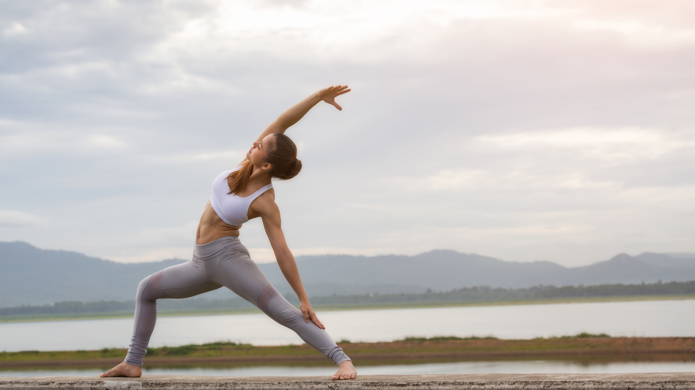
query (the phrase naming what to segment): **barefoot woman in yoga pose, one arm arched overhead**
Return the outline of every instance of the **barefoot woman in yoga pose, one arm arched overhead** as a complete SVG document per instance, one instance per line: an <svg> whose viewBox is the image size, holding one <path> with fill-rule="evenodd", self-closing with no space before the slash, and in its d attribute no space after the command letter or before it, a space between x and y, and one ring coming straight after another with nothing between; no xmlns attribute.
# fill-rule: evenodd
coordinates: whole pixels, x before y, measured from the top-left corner
<svg viewBox="0 0 695 390"><path fill-rule="evenodd" d="M283 134L285 130L320 101L343 110L335 98L347 92L350 92L347 85L327 87L283 112L261 133L235 169L215 178L212 195L198 225L193 259L149 275L140 282L128 355L124 362L99 376L142 375L142 357L154 330L158 298L188 298L222 286L294 330L306 344L332 359L338 365L334 380L357 376L350 358L327 334L309 305L297 264L280 227L280 211L270 184L272 178L288 180L302 169L302 162L297 160L297 147ZM283 275L300 298L301 311L277 293L239 241L241 224L258 217L263 220Z"/></svg>

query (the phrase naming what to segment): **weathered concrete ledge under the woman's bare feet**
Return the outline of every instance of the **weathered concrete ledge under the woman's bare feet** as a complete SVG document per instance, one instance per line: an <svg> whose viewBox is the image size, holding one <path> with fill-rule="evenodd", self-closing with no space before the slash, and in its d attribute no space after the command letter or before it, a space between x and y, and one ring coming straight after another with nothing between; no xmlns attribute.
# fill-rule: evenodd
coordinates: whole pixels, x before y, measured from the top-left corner
<svg viewBox="0 0 695 390"><path fill-rule="evenodd" d="M695 390L695 373L366 375L327 377L213 377L146 375L142 378L0 378L0 390L224 390L224 389L467 389L467 390Z"/></svg>

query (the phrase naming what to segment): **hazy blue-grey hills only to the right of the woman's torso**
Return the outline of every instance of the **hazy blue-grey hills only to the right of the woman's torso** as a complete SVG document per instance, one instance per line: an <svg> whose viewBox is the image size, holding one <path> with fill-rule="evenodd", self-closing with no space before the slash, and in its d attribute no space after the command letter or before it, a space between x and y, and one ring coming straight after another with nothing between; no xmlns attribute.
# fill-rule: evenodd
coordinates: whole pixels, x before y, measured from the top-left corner
<svg viewBox="0 0 695 390"><path fill-rule="evenodd" d="M493 257L431 251L415 256L322 255L297 257L302 280L310 295L330 295L336 289L352 289L343 294L380 294L379 287L391 284L402 292L448 291L461 287L490 286L525 288L537 285L603 285L685 282L695 280L695 256L642 253L637 256L616 255L610 260L588 266L567 268L553 262L505 262ZM279 291L290 288L277 264L263 264L263 272ZM325 286L325 294L314 288ZM419 287L418 289L414 289ZM370 289L371 288L371 289ZM414 290L405 291L406 288ZM359 291L358 291L359 290ZM336 294L341 294L336 291Z"/></svg>

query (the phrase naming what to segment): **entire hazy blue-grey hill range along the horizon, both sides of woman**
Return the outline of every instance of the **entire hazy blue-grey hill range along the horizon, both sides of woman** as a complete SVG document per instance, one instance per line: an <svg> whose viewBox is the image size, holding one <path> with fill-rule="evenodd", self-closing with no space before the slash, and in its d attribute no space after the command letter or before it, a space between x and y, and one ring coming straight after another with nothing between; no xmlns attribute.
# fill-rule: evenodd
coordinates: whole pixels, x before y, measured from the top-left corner
<svg viewBox="0 0 695 390"><path fill-rule="evenodd" d="M25 242L0 242L0 307L43 305L65 300L130 300L138 282L183 260L122 264L70 251L47 251ZM259 264L275 287L291 287L275 263ZM298 256L297 266L311 296L377 292L420 293L486 285L598 285L695 280L695 255L617 255L589 266L552 262L505 262L493 257L431 251L416 256ZM227 289L204 294L229 298Z"/></svg>

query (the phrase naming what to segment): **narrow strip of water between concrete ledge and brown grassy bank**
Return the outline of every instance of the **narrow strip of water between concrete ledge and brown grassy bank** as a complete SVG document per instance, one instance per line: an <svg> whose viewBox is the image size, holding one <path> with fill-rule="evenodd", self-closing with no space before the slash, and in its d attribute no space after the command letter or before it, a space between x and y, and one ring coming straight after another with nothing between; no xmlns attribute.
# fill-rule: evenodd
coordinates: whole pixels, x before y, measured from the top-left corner
<svg viewBox="0 0 695 390"><path fill-rule="evenodd" d="M213 376L320 376L333 375L334 367L261 366L239 368L145 368L144 375L213 375ZM455 362L400 364L395 366L357 366L360 375L424 375L475 373L679 373L695 371L695 362L577 364L547 360L525 362ZM33 370L0 371L0 376L97 376L103 370Z"/></svg>

